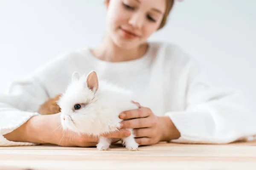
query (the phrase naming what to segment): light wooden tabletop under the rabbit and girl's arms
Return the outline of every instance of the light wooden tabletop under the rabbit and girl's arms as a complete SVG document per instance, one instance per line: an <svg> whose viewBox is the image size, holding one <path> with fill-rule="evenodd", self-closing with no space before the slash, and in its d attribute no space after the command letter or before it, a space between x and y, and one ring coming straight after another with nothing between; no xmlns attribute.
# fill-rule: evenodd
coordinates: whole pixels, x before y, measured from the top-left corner
<svg viewBox="0 0 256 170"><path fill-rule="evenodd" d="M0 147L0 169L7 167L8 170L256 170L256 141L219 145L159 143L140 147L138 151L127 151L120 145L108 151L51 145Z"/></svg>

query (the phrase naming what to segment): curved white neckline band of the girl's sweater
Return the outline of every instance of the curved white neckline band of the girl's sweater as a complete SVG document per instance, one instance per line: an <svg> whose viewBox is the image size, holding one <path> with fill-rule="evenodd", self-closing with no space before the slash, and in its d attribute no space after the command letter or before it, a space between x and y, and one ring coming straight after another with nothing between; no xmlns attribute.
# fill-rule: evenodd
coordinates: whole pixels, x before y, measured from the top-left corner
<svg viewBox="0 0 256 170"><path fill-rule="evenodd" d="M90 62L93 62L93 64L97 65L97 67L108 68L113 71L129 71L148 67L151 62L152 50L153 46L150 42L148 42L148 49L142 57L123 62L111 62L98 59L93 55L90 47L86 48L84 56L89 58Z"/></svg>

